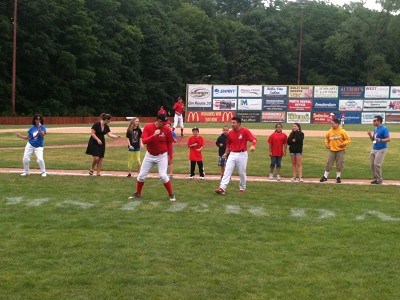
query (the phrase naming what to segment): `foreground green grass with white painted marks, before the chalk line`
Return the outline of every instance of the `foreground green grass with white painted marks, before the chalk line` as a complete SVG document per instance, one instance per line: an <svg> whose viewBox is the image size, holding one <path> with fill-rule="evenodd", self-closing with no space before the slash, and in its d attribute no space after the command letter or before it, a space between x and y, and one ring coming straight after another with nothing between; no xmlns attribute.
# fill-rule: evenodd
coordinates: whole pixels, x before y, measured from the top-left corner
<svg viewBox="0 0 400 300"><path fill-rule="evenodd" d="M220 196L174 180L170 203L155 179L131 202L128 178L0 180L5 299L400 297L395 186L249 182L239 195L231 182Z"/></svg>

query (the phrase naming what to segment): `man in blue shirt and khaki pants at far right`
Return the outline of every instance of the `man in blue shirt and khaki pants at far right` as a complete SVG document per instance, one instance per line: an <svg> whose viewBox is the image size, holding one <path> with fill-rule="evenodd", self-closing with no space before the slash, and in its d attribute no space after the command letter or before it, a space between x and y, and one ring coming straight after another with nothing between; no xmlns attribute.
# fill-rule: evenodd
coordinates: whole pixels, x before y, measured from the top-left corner
<svg viewBox="0 0 400 300"><path fill-rule="evenodd" d="M387 151L387 143L390 142L389 130L382 124L381 116L374 117L374 134L368 131L368 136L372 141L372 150L370 153L370 166L374 180L371 184L382 184L382 164Z"/></svg>

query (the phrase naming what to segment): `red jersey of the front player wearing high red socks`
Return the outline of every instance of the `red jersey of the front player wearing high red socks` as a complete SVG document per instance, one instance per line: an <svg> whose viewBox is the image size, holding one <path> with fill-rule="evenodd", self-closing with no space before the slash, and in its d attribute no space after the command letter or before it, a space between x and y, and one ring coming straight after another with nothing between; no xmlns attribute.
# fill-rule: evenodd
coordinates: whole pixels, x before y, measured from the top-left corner
<svg viewBox="0 0 400 300"><path fill-rule="evenodd" d="M147 151L151 155L159 155L164 152L168 152L169 158L172 159L172 143L174 138L172 137L171 129L168 126L164 126L160 129L160 134L154 136L154 132L158 128L154 123L146 124L143 128L142 141L147 146Z"/></svg>

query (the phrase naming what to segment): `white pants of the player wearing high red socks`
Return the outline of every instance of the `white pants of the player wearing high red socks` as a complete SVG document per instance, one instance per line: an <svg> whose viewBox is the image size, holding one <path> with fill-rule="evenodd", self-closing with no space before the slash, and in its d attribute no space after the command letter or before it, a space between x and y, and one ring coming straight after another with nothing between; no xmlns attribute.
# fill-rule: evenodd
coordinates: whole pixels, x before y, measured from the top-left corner
<svg viewBox="0 0 400 300"><path fill-rule="evenodd" d="M167 183L169 181L169 177L167 175L168 152L164 152L160 155L151 155L146 151L137 181L144 182L154 165L158 166L158 176L160 177L162 183Z"/></svg>

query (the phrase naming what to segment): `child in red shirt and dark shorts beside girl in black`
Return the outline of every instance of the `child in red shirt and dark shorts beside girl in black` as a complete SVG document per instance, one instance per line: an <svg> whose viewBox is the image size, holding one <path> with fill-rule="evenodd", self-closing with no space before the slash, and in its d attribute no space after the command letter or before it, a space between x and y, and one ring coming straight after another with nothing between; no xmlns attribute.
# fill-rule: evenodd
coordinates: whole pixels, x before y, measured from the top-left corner
<svg viewBox="0 0 400 300"><path fill-rule="evenodd" d="M269 179L274 179L274 169L276 168L276 180L281 180L281 163L282 157L286 156L287 135L282 132L282 124L275 125L275 131L267 140L269 157L271 164L269 166Z"/></svg>

